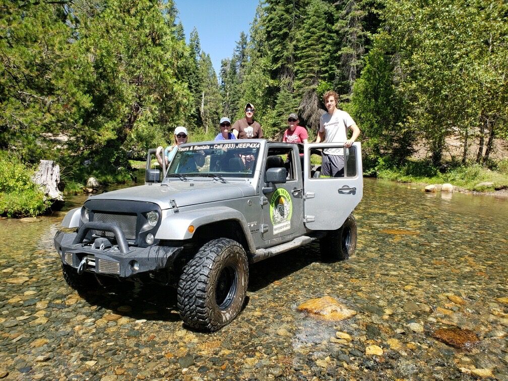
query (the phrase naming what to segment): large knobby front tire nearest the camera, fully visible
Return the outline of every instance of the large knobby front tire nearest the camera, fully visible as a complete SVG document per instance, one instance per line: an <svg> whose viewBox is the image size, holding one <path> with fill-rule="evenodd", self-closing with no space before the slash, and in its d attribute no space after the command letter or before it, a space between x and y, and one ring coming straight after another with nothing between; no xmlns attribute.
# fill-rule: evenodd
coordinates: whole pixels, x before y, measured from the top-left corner
<svg viewBox="0 0 508 381"><path fill-rule="evenodd" d="M247 293L249 267L243 247L228 238L205 243L183 268L178 309L183 322L216 331L235 319Z"/></svg>

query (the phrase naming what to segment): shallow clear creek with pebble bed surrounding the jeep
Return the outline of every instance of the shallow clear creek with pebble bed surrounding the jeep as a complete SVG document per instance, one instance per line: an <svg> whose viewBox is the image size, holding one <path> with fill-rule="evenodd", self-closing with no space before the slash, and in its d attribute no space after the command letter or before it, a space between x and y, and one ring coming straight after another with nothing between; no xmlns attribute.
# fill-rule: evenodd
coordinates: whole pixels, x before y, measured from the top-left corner
<svg viewBox="0 0 508 381"><path fill-rule="evenodd" d="M0 221L0 379L508 379L506 199L366 180L356 255L252 265L243 311L212 334L182 325L170 289L70 289L63 215ZM322 297L356 314L299 310Z"/></svg>

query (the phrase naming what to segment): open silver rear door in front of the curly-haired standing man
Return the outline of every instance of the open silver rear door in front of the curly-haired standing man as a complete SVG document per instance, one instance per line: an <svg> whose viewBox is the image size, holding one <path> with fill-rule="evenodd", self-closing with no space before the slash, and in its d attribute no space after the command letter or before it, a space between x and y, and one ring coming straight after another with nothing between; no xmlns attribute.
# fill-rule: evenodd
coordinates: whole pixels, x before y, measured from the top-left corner
<svg viewBox="0 0 508 381"><path fill-rule="evenodd" d="M344 158L340 177L321 174L323 149L334 148ZM304 145L304 223L312 230L339 229L363 196L362 150L360 143L344 148L344 143Z"/></svg>

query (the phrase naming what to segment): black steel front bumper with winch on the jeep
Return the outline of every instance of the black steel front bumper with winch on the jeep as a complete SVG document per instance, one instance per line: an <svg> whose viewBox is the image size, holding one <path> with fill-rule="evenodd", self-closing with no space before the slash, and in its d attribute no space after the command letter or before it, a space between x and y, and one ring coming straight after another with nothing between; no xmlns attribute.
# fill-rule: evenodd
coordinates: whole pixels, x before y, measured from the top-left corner
<svg viewBox="0 0 508 381"><path fill-rule="evenodd" d="M100 249L93 247L93 241L83 243L78 235L79 233L65 233L61 230L55 234L54 245L63 264L78 272L116 275L121 278L171 267L183 249L183 246L135 247L126 243ZM117 238L117 241L126 242L121 237Z"/></svg>

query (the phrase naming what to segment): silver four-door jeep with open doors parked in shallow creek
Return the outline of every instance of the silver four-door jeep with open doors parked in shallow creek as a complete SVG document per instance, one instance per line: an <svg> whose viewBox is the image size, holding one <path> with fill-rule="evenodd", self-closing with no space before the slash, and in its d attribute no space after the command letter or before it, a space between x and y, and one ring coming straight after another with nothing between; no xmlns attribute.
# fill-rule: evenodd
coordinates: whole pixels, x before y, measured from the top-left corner
<svg viewBox="0 0 508 381"><path fill-rule="evenodd" d="M341 177L320 176L324 148L342 153ZM145 185L90 196L63 218L75 231L58 231L54 244L71 287L114 278L173 285L183 321L215 331L241 310L249 263L315 240L328 260L355 251L359 143L188 143L167 169L153 152Z"/></svg>

